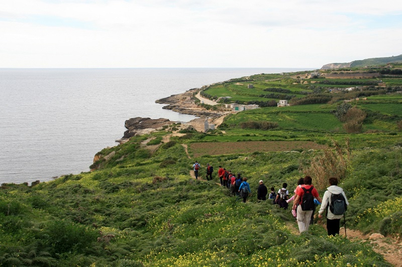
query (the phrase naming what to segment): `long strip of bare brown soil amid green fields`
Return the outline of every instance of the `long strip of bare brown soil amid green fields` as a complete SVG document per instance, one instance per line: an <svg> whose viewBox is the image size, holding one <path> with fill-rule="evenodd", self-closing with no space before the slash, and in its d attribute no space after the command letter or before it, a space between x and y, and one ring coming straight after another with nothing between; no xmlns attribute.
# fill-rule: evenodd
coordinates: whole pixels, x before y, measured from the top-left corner
<svg viewBox="0 0 402 267"><path fill-rule="evenodd" d="M208 142L189 145L194 157L202 155L243 154L252 152L291 151L296 149L324 149L326 146L311 141L244 141Z"/></svg>

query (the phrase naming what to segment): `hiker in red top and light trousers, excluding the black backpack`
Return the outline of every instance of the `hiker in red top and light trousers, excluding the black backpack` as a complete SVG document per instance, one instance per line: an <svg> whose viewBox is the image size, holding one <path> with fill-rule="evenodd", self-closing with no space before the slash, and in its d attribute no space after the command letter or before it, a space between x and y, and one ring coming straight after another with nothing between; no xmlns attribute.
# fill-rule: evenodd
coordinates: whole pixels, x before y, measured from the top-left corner
<svg viewBox="0 0 402 267"><path fill-rule="evenodd" d="M306 192L309 193L311 192L311 194L315 198L317 198L317 200L320 203L322 202L322 199L319 196L317 189L314 188L314 186L312 185L312 178L310 176L306 176L303 180L305 184L301 185L300 187L299 186L296 187L296 198L294 199L292 207L293 210L295 210L297 207L297 225L298 230L300 232L309 230L311 214L313 213L313 207L311 208L311 210L303 210L302 208L303 195Z"/></svg>

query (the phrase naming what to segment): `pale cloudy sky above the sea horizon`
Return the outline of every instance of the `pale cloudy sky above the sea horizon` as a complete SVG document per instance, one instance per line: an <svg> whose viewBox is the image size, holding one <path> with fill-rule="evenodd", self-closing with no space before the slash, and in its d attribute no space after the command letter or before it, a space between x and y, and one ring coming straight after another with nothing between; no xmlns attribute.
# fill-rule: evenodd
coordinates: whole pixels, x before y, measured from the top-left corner
<svg viewBox="0 0 402 267"><path fill-rule="evenodd" d="M0 68L321 68L402 54L394 0L0 0Z"/></svg>

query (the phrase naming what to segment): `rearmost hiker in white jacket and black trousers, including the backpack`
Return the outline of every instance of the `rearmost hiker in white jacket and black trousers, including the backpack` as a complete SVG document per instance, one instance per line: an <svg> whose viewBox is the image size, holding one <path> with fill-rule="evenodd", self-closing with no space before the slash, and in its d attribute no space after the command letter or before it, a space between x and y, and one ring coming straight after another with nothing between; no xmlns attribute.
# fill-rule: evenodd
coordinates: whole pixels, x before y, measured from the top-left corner
<svg viewBox="0 0 402 267"><path fill-rule="evenodd" d="M327 188L323 196L323 201L321 204L321 208L318 211L318 217L321 219L324 213L324 210L327 209L327 231L328 235L337 235L339 234L339 224L341 218L344 216L347 206L349 205L348 199L346 198L345 192L341 187L338 186L338 178L331 177L329 179L330 186ZM342 196L344 199L342 199ZM338 206L332 203L332 201L343 201L339 210ZM343 205L343 206L342 206ZM345 206L346 205L346 206ZM332 206L332 208L331 208ZM343 209L343 210L342 210ZM339 215L335 215L334 213L342 213Z"/></svg>

